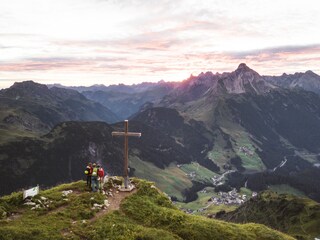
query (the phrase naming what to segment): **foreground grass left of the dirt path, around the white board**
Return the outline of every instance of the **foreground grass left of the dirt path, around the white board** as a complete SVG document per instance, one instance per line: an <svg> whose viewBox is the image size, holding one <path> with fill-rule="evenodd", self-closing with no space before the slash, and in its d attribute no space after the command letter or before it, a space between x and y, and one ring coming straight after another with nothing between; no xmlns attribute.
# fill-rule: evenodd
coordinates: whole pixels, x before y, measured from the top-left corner
<svg viewBox="0 0 320 240"><path fill-rule="evenodd" d="M68 201L63 200L63 190L74 191L68 195ZM1 198L0 214L14 213L16 217L0 221L0 239L63 239L64 229L72 227L75 221L93 217L93 203L101 204L104 199L101 194L87 192L83 181L40 191L34 199L40 200L41 196L52 201L48 208L31 210L30 206L22 205L22 193Z"/></svg>

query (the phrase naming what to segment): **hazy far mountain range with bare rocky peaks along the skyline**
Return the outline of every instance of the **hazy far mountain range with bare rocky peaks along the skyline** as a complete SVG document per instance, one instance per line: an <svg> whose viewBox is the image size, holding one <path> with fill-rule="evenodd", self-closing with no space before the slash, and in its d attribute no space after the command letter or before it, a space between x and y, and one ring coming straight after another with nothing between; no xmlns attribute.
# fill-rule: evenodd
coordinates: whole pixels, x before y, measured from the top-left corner
<svg viewBox="0 0 320 240"><path fill-rule="evenodd" d="M261 76L246 64L241 63L231 73L206 72L198 76L191 76L182 82L159 81L135 85L93 85L90 87L48 85L49 88L54 86L77 90L88 99L101 103L123 120L135 114L140 108L150 107L150 104L161 100L166 102L165 106L170 106L171 101L174 107L180 102L188 102L205 93L215 96L254 92L261 94L280 87L301 88L319 94L320 76L312 71L289 75L284 73L281 76Z"/></svg>

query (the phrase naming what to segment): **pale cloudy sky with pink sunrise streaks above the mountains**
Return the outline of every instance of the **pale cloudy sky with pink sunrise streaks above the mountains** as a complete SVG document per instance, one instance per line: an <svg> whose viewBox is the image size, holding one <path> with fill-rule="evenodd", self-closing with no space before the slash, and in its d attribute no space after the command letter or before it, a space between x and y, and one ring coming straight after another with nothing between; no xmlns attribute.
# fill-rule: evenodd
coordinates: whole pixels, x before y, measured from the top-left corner
<svg viewBox="0 0 320 240"><path fill-rule="evenodd" d="M318 0L1 0L0 88L320 74Z"/></svg>

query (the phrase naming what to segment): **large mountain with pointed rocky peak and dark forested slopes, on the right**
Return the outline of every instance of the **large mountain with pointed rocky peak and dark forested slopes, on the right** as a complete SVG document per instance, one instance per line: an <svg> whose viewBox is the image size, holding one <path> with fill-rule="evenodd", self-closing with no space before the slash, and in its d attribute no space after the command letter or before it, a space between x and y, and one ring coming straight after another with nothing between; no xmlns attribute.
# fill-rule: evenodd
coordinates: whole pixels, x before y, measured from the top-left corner
<svg viewBox="0 0 320 240"><path fill-rule="evenodd" d="M185 148L191 145L192 152L199 153L193 161L208 158L219 167L217 171L204 165L212 171L236 170L226 180L227 186L239 188L246 183L260 191L287 183L319 201L320 182L315 180L320 174L319 103L320 96L313 92L276 87L240 64L231 73L189 78L160 102L147 104L133 119L183 139ZM159 107L176 109L180 122L201 132L206 141L185 144L192 131L180 129L181 124L171 127L171 115Z"/></svg>

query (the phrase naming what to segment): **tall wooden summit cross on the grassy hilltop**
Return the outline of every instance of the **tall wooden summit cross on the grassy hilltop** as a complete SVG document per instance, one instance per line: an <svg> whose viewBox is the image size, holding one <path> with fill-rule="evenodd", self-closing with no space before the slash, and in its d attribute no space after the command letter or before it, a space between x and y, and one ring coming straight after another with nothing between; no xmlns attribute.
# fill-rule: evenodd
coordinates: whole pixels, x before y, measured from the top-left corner
<svg viewBox="0 0 320 240"><path fill-rule="evenodd" d="M128 120L124 120L124 132L112 132L112 136L124 136L124 187L127 189L129 185L128 178L128 137L141 137L141 133L128 132Z"/></svg>

